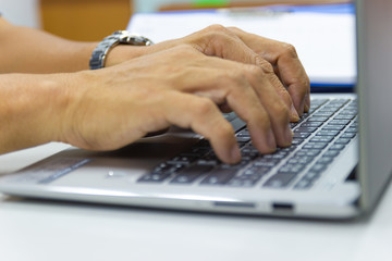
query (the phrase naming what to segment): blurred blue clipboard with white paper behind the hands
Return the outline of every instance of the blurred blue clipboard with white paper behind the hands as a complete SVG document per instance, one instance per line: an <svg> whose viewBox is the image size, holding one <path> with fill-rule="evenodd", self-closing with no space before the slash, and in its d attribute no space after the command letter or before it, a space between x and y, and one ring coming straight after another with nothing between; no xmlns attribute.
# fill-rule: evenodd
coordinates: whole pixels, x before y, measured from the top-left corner
<svg viewBox="0 0 392 261"><path fill-rule="evenodd" d="M137 13L127 30L160 42L211 24L235 26L295 46L314 92L353 91L357 70L352 3Z"/></svg>

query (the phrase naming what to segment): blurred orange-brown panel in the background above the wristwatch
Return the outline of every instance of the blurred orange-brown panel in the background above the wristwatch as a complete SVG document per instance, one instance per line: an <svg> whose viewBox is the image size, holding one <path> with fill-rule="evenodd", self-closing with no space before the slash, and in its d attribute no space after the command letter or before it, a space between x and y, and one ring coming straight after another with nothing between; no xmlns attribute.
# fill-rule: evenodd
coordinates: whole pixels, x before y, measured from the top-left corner
<svg viewBox="0 0 392 261"><path fill-rule="evenodd" d="M42 28L73 40L101 40L125 29L130 0L40 0Z"/></svg>

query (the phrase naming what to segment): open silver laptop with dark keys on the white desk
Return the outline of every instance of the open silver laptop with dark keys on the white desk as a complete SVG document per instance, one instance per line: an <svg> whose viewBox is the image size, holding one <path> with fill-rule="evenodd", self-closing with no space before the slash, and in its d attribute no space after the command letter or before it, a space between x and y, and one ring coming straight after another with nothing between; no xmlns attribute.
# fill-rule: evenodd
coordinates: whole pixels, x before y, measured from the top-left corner
<svg viewBox="0 0 392 261"><path fill-rule="evenodd" d="M356 14L356 94L314 95L309 113L292 124L289 148L258 153L244 122L229 113L240 164L221 163L208 140L172 128L111 152L71 148L2 176L0 191L255 215L336 220L369 213L392 171L392 2L358 0Z"/></svg>

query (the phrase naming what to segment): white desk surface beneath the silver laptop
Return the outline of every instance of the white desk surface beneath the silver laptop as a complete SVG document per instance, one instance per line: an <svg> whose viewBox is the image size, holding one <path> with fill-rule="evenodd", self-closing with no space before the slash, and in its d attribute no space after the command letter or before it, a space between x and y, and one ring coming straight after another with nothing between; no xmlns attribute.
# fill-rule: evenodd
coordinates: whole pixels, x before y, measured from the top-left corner
<svg viewBox="0 0 392 261"><path fill-rule="evenodd" d="M0 157L10 172L66 148ZM0 195L0 260L391 260L392 190L369 220L321 222L15 200Z"/></svg>

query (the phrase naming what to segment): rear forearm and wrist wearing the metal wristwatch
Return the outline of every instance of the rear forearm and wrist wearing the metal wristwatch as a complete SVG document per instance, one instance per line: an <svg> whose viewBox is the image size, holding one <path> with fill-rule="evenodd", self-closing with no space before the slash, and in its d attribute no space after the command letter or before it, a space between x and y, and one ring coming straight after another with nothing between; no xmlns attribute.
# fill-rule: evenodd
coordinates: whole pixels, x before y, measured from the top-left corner
<svg viewBox="0 0 392 261"><path fill-rule="evenodd" d="M34 28L11 25L0 17L0 73L87 70L97 44L66 40ZM138 51L134 47L117 47L109 52L107 65L132 59Z"/></svg>

